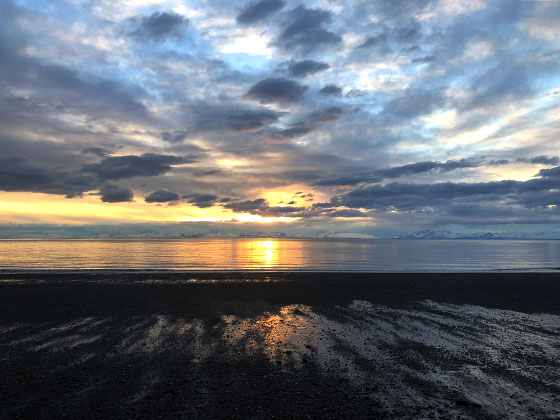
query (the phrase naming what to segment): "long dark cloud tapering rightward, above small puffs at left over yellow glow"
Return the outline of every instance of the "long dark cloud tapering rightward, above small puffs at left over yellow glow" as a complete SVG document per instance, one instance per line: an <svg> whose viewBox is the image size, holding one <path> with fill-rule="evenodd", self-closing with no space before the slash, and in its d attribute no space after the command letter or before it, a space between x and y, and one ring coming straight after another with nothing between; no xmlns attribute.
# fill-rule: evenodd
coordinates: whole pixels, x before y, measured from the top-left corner
<svg viewBox="0 0 560 420"><path fill-rule="evenodd" d="M172 165L190 163L192 160L172 155L145 153L141 156L115 156L99 163L85 165L82 172L95 174L102 180L119 180L135 176L158 176L172 169Z"/></svg>

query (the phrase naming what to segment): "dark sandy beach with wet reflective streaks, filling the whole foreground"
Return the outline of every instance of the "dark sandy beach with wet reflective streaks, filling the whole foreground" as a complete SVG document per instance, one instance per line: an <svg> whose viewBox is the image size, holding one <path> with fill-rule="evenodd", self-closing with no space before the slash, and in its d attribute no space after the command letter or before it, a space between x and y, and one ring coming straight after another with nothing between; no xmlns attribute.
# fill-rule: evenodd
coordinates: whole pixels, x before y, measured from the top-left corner
<svg viewBox="0 0 560 420"><path fill-rule="evenodd" d="M0 274L0 418L560 419L560 275Z"/></svg>

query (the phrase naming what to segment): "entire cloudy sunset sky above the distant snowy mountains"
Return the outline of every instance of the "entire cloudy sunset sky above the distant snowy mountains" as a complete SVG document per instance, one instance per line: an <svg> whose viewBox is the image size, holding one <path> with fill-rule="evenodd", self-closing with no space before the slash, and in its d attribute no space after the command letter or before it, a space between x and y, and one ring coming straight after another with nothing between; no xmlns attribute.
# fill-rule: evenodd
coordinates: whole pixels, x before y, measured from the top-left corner
<svg viewBox="0 0 560 420"><path fill-rule="evenodd" d="M560 1L3 0L0 56L4 227L560 235Z"/></svg>

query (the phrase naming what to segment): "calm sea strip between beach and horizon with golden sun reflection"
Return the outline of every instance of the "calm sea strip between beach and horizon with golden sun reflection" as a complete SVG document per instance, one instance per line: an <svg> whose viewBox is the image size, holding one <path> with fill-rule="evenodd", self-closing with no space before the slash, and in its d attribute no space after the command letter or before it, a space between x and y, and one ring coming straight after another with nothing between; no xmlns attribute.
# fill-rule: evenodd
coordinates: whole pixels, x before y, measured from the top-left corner
<svg viewBox="0 0 560 420"><path fill-rule="evenodd" d="M0 240L0 270L493 271L560 267L560 241Z"/></svg>

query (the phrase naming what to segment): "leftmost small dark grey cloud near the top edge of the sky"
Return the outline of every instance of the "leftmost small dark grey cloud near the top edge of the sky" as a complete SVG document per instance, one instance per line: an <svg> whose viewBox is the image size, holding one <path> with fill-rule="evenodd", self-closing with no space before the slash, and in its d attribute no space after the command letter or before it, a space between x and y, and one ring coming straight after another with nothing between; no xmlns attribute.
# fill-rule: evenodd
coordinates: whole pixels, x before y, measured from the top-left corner
<svg viewBox="0 0 560 420"><path fill-rule="evenodd" d="M131 35L138 40L161 41L169 36L181 37L188 19L173 12L154 12L140 18L138 28Z"/></svg>

